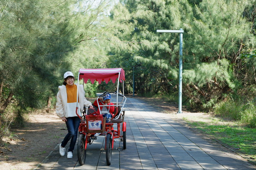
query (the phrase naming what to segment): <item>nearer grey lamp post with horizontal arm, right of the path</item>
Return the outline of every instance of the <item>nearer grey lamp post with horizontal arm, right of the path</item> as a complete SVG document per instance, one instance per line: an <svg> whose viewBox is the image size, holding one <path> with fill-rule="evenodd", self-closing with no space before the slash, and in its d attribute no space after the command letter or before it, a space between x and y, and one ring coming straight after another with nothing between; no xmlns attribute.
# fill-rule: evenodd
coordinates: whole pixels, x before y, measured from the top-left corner
<svg viewBox="0 0 256 170"><path fill-rule="evenodd" d="M180 54L179 54L179 111L178 113L182 113L181 104L182 104L182 39L184 30L180 28L180 30L156 30L157 33L180 33Z"/></svg>

